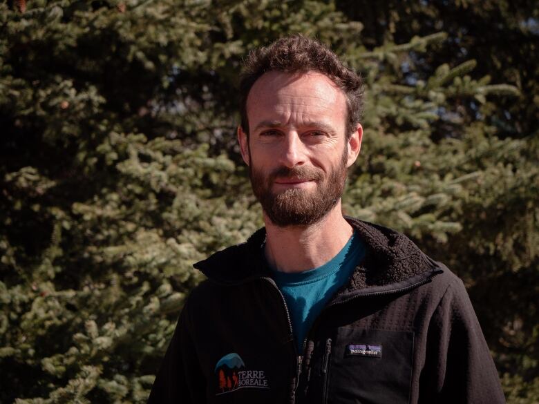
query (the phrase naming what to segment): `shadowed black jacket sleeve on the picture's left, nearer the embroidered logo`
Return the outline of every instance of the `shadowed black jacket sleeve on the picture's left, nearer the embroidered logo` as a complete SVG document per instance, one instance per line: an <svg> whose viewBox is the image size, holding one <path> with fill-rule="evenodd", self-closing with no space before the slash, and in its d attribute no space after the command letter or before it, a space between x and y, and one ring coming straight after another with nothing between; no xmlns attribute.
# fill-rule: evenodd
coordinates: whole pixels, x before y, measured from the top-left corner
<svg viewBox="0 0 539 404"><path fill-rule="evenodd" d="M206 402L205 376L200 370L193 343L188 304L186 302L182 309L167 353L153 382L148 404Z"/></svg>

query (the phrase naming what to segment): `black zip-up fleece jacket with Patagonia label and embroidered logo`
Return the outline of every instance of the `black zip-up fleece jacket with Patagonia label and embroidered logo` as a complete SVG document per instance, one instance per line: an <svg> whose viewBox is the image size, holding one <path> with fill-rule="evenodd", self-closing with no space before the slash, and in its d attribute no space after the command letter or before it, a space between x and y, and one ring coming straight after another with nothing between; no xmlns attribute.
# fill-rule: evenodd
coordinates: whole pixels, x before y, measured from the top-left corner
<svg viewBox="0 0 539 404"><path fill-rule="evenodd" d="M195 267L149 403L504 403L462 281L406 236L347 218L367 245L296 352L261 245Z"/></svg>

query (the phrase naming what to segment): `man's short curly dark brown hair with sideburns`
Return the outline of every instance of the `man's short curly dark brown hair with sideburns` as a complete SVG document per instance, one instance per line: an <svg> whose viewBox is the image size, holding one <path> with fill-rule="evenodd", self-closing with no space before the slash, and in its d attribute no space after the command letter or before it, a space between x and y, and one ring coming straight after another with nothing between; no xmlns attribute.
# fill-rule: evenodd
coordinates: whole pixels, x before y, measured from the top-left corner
<svg viewBox="0 0 539 404"><path fill-rule="evenodd" d="M363 80L321 42L303 35L292 35L274 41L269 46L252 50L244 62L240 76L241 128L249 135L247 97L264 73L278 71L304 73L314 71L330 78L346 96L346 137L355 131L363 109Z"/></svg>

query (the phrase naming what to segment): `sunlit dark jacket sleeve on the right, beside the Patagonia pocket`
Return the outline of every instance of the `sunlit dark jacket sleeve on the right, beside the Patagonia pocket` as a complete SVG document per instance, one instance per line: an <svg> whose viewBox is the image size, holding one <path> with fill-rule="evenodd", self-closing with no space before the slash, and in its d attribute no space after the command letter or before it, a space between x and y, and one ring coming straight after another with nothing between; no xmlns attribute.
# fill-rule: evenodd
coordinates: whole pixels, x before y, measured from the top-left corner
<svg viewBox="0 0 539 404"><path fill-rule="evenodd" d="M428 329L419 403L505 403L500 378L462 280L446 289Z"/></svg>

